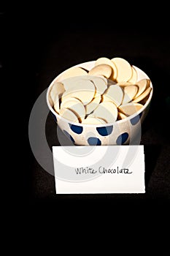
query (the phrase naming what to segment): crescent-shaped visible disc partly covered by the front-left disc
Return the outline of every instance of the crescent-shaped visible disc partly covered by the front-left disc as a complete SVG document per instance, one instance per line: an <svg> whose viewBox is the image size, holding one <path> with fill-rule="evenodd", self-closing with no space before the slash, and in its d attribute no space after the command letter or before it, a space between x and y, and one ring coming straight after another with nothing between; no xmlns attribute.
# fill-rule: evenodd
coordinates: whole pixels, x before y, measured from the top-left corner
<svg viewBox="0 0 170 256"><path fill-rule="evenodd" d="M69 108L69 110L72 110L80 121L85 118L85 107L79 99L68 98L68 100L61 102L61 109L62 108Z"/></svg>

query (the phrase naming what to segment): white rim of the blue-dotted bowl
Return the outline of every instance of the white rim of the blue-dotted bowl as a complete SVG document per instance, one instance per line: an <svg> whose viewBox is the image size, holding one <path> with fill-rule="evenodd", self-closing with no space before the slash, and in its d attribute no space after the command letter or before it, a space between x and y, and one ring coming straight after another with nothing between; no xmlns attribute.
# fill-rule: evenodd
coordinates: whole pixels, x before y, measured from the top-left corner
<svg viewBox="0 0 170 256"><path fill-rule="evenodd" d="M95 61L86 61L86 62L82 62L82 63L80 63L80 64L76 64L76 65L74 65L74 66L72 66L72 67L82 67L82 68L85 68L85 67L84 67L85 64L94 64L94 63L95 63ZM136 67L136 66L134 66L134 65L132 65L132 67L134 67L134 69L136 69L136 72L137 72L137 73L140 72L140 73L142 73L142 75L144 75L145 78L150 79L150 78L148 77L148 75L147 75L142 69L139 69L139 67ZM136 111L136 113L134 113L134 114L131 115L131 116L127 116L126 118L123 118L123 119L121 119L121 120L113 121L113 122L111 122L111 123L106 123L106 124L82 124L82 123L76 123L76 122L74 122L74 121L69 121L69 120L67 120L66 118L63 118L63 116L60 116L58 113L56 113L55 110L53 110L53 108L52 108L51 105L50 105L49 97L48 97L48 95L49 95L49 93L50 93L50 89L51 89L51 87L53 86L53 83L55 83L55 80L58 80L58 78L60 78L61 75L63 75L63 73L66 72L66 70L67 70L67 69L65 69L63 72L61 72L59 75L57 75L57 76L52 80L52 82L50 83L50 85L49 85L48 88L47 88L47 94L46 94L47 105L48 105L48 108L50 109L50 111L56 116L57 120L60 120L60 119L61 119L62 121L66 121L66 122L69 123L69 124L73 124L73 125L80 126L80 127L82 127L82 126L83 126L83 127L109 127L109 126L111 126L111 125L113 125L113 124L115 124L115 123L116 123L116 124L121 124L121 123L123 123L123 122L130 121L132 118L134 118L134 117L136 117L136 116L139 116L139 114L142 113L142 112L147 108L147 106L150 104L150 102L151 102L152 94L153 94L152 80L150 80L150 87L152 88L152 90L150 91L150 95L149 95L149 97L148 97L148 99L147 99L147 102L143 105L143 107L142 107L140 110Z"/></svg>

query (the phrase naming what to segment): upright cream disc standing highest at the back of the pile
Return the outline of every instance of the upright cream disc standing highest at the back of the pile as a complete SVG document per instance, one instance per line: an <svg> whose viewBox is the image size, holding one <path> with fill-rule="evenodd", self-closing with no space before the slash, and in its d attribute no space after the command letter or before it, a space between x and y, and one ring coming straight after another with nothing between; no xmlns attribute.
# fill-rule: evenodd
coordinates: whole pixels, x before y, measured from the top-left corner
<svg viewBox="0 0 170 256"><path fill-rule="evenodd" d="M111 61L117 67L117 82L127 82L132 76L131 64L123 58L113 58Z"/></svg>

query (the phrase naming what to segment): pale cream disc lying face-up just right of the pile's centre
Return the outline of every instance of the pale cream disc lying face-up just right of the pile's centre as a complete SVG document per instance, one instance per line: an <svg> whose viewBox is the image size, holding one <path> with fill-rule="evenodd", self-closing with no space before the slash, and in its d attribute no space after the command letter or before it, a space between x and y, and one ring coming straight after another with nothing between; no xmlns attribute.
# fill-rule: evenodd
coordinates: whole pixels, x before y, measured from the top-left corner
<svg viewBox="0 0 170 256"><path fill-rule="evenodd" d="M112 101L118 107L123 100L123 89L117 85L109 86L107 91L104 92L102 100L103 102Z"/></svg>

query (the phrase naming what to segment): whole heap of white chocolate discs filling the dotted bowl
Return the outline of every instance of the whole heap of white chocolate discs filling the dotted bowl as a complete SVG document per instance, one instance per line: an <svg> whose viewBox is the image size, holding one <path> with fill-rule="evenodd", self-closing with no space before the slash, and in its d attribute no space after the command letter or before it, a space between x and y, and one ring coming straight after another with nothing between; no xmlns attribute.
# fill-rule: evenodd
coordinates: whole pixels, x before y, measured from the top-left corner
<svg viewBox="0 0 170 256"><path fill-rule="evenodd" d="M122 58L98 58L92 69L71 67L50 90L54 110L69 121L107 124L140 110L152 88L137 81L136 69Z"/></svg>

